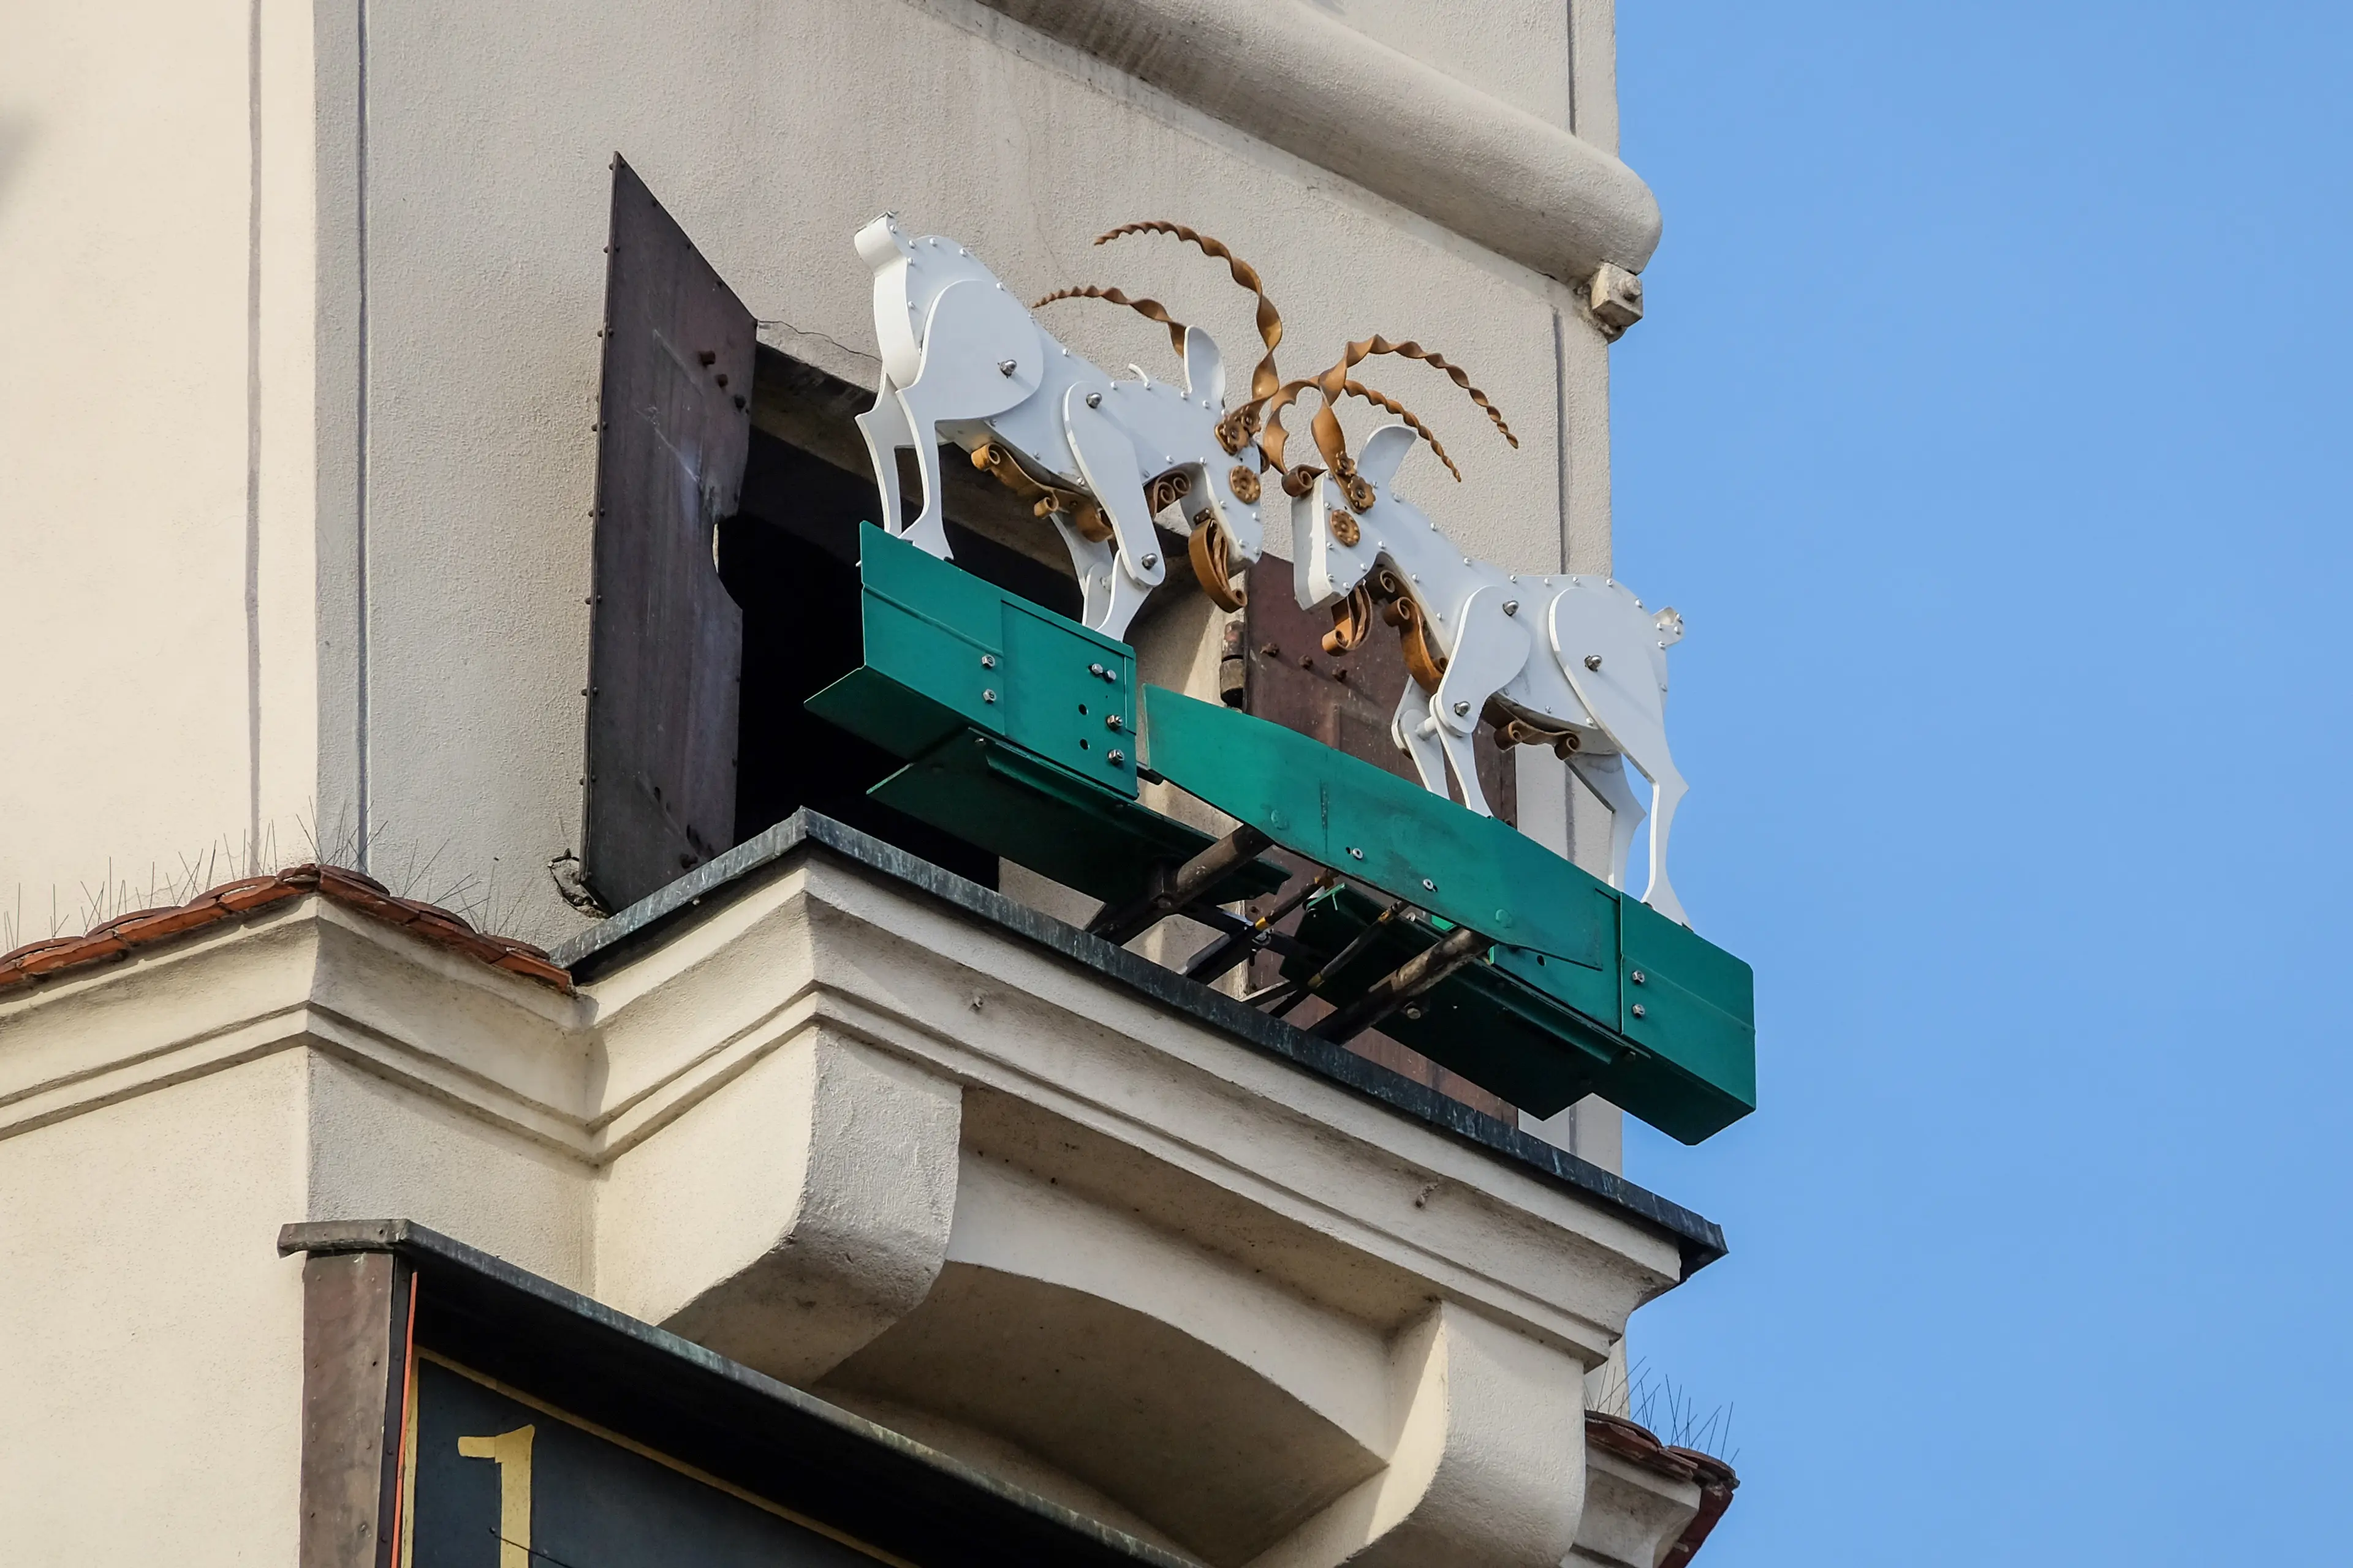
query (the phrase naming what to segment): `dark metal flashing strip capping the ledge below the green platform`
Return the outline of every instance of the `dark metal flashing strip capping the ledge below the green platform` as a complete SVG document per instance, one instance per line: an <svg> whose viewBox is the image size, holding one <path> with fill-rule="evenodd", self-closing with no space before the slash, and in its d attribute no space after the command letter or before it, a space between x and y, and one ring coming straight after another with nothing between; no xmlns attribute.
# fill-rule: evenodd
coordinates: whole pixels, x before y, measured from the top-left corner
<svg viewBox="0 0 2353 1568"><path fill-rule="evenodd" d="M1706 1265L1725 1255L1725 1232L1713 1220L1692 1213L1682 1204L1659 1197L1647 1187L1628 1182L1614 1171L1605 1171L1567 1150L1522 1133L1485 1112L1417 1084L1388 1067L1381 1067L1346 1046L1318 1039L1280 1018L1242 1006L1238 999L1209 990L1181 973L1141 959L1125 947L1087 936L1075 926L1040 914L1024 903L993 889L984 889L929 860L906 853L882 839L845 827L814 811L795 811L767 832L736 844L727 853L692 870L666 889L642 898L609 919L581 931L551 954L555 964L572 971L576 985L609 973L638 952L668 940L675 929L696 919L704 903L718 903L784 875L798 853L809 846L838 860L878 872L984 919L1009 936L1047 947L1066 961L1082 964L1106 980L1125 985L1200 1023L1207 1023L1242 1044L1278 1056L1301 1072L1339 1084L1367 1100L1379 1100L1388 1110L1435 1126L1464 1143L1508 1159L1555 1187L1572 1190L1607 1208L1614 1208L1657 1232L1673 1237L1682 1255L1682 1276L1689 1279Z"/></svg>

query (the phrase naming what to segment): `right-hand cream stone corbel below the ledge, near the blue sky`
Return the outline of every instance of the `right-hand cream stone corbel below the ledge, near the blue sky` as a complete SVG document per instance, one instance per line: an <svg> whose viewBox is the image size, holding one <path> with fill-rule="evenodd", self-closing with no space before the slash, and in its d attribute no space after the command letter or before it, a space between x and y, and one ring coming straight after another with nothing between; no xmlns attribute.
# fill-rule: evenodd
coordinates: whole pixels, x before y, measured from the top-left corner
<svg viewBox="0 0 2353 1568"><path fill-rule="evenodd" d="M1264 1552L1252 1568L1553 1568L1586 1493L1584 1368L1440 1302L1391 1359L1388 1467Z"/></svg>

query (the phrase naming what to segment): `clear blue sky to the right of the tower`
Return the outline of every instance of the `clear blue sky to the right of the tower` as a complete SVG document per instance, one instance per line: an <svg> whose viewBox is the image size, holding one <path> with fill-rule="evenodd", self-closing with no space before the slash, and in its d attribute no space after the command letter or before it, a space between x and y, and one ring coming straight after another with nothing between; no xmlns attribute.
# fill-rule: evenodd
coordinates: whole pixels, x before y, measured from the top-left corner
<svg viewBox="0 0 2353 1568"><path fill-rule="evenodd" d="M2353 1559L2353 9L1624 0L1722 1563ZM2334 1540L2337 1544L2327 1544ZM2306 1556L2311 1554L2311 1556Z"/></svg>

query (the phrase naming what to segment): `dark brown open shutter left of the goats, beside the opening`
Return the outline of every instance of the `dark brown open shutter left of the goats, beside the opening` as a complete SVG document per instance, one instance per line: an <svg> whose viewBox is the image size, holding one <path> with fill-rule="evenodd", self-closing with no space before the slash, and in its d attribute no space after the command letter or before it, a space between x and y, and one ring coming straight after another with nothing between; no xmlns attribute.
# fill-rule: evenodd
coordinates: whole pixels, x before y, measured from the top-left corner
<svg viewBox="0 0 2353 1568"><path fill-rule="evenodd" d="M753 315L612 162L581 875L631 905L734 844L744 616L713 529L751 449Z"/></svg>

